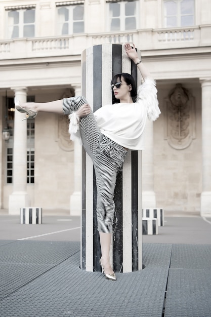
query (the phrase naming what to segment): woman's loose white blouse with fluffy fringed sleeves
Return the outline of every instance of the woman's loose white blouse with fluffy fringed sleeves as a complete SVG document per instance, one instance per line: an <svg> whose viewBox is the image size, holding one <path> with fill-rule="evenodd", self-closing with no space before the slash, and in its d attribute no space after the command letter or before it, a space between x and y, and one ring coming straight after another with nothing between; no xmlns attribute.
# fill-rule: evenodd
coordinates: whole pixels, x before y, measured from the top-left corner
<svg viewBox="0 0 211 317"><path fill-rule="evenodd" d="M159 114L157 89L154 80L149 77L139 86L135 103L109 104L94 112L100 131L114 142L132 150L144 149L143 132L147 116L149 120L155 121ZM69 115L71 135L76 133L73 116Z"/></svg>

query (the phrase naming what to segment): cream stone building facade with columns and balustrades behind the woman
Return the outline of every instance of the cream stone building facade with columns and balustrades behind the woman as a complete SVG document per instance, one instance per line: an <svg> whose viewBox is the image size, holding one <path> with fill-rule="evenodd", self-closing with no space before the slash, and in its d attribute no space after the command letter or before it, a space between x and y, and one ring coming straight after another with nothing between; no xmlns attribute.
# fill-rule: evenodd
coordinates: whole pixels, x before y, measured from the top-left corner
<svg viewBox="0 0 211 317"><path fill-rule="evenodd" d="M67 118L21 121L13 99L79 95L81 53L130 42L156 80L161 109L145 131L143 207L211 215L210 0L10 0L0 1L0 17L1 208L80 214L81 148Z"/></svg>

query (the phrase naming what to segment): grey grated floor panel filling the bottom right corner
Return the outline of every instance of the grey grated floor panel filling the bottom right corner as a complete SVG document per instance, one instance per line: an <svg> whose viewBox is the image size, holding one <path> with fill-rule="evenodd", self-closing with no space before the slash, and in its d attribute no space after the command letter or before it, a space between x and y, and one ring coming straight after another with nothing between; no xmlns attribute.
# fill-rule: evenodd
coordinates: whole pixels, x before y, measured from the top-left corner
<svg viewBox="0 0 211 317"><path fill-rule="evenodd" d="M211 316L211 270L170 269L164 317Z"/></svg>

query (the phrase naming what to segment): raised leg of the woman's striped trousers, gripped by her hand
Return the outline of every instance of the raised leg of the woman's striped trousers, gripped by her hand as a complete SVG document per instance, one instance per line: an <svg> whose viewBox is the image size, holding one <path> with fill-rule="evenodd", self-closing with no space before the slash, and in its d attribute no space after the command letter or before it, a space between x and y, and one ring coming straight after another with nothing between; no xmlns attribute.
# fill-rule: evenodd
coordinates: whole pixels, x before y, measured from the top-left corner
<svg viewBox="0 0 211 317"><path fill-rule="evenodd" d="M63 113L71 114L77 111L82 105L88 103L83 96L76 96L63 99ZM96 123L93 111L80 118L80 135L85 150L91 159L100 154L102 133Z"/></svg>

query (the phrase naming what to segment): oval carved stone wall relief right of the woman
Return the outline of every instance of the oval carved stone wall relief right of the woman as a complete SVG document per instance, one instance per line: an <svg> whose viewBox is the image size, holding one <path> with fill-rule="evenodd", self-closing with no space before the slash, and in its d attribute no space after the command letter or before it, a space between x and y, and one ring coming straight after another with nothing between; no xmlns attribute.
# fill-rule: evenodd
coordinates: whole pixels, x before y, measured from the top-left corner
<svg viewBox="0 0 211 317"><path fill-rule="evenodd" d="M177 84L166 99L165 139L175 149L188 147L195 139L195 105L189 91Z"/></svg>

